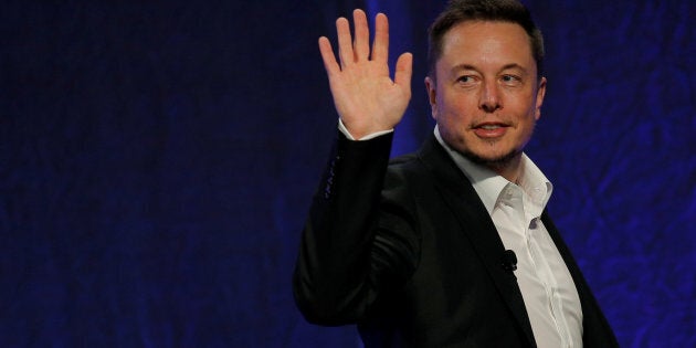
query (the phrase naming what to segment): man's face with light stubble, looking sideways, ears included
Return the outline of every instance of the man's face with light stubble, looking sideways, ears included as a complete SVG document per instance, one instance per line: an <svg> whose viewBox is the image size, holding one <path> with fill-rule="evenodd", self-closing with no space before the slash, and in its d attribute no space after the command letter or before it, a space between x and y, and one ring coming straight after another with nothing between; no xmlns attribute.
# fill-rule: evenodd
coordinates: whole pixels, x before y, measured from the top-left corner
<svg viewBox="0 0 696 348"><path fill-rule="evenodd" d="M489 166L519 158L546 92L521 27L456 24L443 38L435 76L425 78L432 116L451 147Z"/></svg>

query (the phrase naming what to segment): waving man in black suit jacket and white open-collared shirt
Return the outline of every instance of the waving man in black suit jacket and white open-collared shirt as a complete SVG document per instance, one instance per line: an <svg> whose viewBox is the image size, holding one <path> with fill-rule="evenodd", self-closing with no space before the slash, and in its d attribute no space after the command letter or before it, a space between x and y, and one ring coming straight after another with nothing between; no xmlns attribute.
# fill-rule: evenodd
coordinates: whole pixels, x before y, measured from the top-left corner
<svg viewBox="0 0 696 348"><path fill-rule="evenodd" d="M523 152L540 117L541 33L515 0L454 0L430 30L433 136L389 161L412 56L387 65L388 21L336 22L319 50L339 136L294 276L307 320L357 323L366 347L615 347Z"/></svg>

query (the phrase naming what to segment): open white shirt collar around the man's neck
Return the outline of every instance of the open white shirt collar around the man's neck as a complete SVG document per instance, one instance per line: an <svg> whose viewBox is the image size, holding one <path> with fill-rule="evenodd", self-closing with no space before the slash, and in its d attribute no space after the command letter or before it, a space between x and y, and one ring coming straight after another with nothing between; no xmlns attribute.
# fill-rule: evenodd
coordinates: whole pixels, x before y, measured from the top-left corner
<svg viewBox="0 0 696 348"><path fill-rule="evenodd" d="M435 135L435 138L437 139L437 143L440 143L440 145L444 147L444 149L447 151L447 154L450 154L450 157L454 160L456 166L472 182L474 190L476 190L476 193L486 207L488 214L492 214L493 209L495 208L495 204L500 197L500 193L512 182L497 175L495 171L481 165L474 164L470 159L462 156L462 154L452 149L442 139L442 136L440 135L440 129L436 125L433 133ZM521 158L521 166L523 170L518 180L519 187L531 199L532 204L540 207L540 210L544 210L544 207L546 207L546 203L551 197L553 186L546 178L546 176L544 176L541 170L524 152Z"/></svg>

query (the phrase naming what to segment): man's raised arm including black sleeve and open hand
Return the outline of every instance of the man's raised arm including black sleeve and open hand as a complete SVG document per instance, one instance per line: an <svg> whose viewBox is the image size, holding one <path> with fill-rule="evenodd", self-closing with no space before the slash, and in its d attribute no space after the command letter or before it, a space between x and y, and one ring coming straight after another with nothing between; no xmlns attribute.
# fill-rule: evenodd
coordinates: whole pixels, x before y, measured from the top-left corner
<svg viewBox="0 0 696 348"><path fill-rule="evenodd" d="M392 129L410 98L411 55L402 54L394 81L387 66L387 17L376 18L369 57L367 19L354 12L355 44L348 21L336 22L340 65L326 38L319 49L336 109L355 138ZM303 231L294 293L307 320L325 325L355 323L379 294L380 275L390 268L389 245L376 239L392 135L351 141L339 135Z"/></svg>

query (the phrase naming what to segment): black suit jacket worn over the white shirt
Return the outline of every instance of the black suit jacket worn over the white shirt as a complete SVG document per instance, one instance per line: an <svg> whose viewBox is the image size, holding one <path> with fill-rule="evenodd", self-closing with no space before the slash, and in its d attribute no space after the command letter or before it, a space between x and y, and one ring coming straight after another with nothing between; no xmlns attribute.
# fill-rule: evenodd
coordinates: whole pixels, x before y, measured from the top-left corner
<svg viewBox="0 0 696 348"><path fill-rule="evenodd" d="M295 268L305 318L357 323L366 347L535 347L503 242L466 176L434 137L389 162L391 138L339 135ZM584 347L616 347L548 213L541 219L578 288Z"/></svg>

